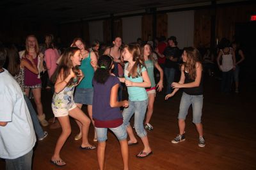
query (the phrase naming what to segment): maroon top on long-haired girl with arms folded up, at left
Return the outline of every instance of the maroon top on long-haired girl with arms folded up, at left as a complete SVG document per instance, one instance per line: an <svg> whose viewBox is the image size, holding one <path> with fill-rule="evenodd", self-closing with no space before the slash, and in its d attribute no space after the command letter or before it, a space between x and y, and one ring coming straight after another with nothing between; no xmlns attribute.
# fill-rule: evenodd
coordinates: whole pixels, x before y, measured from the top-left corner
<svg viewBox="0 0 256 170"><path fill-rule="evenodd" d="M26 58L24 58L24 59L26 59ZM38 57L36 57L33 60L37 65ZM28 63L30 63L32 65L32 63L28 59L26 59L26 61L28 61ZM25 74L25 81L24 81L25 86L35 86L36 84L41 84L41 79L38 78L38 75L36 73L29 71L28 68L26 68L26 67L24 68L24 70L25 70L25 73L24 73Z"/></svg>

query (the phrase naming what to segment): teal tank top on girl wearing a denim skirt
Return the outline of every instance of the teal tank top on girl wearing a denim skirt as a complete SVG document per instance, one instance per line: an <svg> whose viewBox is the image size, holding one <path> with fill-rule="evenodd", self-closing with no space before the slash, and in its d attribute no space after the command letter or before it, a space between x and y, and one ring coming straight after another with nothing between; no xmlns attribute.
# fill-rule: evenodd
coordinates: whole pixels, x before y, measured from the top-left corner
<svg viewBox="0 0 256 170"><path fill-rule="evenodd" d="M92 79L94 75L94 69L91 65L91 60L91 52L89 52L88 57L84 58L81 62L81 66L79 66L79 68L84 73L84 78L79 83L77 88L93 88Z"/></svg>

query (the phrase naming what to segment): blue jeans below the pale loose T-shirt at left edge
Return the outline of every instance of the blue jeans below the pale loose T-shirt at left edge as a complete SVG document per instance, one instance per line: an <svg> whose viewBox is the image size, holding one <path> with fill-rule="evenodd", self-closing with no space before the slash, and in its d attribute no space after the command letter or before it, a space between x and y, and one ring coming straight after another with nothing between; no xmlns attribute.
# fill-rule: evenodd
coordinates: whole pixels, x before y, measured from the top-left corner
<svg viewBox="0 0 256 170"><path fill-rule="evenodd" d="M17 141L19 142L19 141ZM29 151L25 155L14 158L14 159L5 159L6 170L30 170L32 164L33 150Z"/></svg>

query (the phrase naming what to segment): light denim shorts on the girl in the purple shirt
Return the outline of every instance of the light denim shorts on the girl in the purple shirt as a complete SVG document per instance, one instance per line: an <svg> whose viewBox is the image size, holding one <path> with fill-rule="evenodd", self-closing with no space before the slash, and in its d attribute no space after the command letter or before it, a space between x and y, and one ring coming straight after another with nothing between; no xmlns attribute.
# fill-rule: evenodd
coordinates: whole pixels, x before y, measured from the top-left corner
<svg viewBox="0 0 256 170"><path fill-rule="evenodd" d="M109 128L117 137L118 141L122 141L127 138L126 128L124 123L116 128ZM97 139L99 142L104 142L108 139L107 132L108 128L97 128L95 127Z"/></svg>

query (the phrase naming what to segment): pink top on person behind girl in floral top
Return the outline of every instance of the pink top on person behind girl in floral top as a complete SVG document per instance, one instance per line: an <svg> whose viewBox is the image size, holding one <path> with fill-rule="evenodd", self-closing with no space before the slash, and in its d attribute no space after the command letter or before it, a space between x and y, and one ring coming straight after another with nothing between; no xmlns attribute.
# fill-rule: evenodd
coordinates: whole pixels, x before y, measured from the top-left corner
<svg viewBox="0 0 256 170"><path fill-rule="evenodd" d="M49 78L51 79L52 74L57 68L56 61L60 58L59 52L57 49L47 49L45 50L45 63L48 71Z"/></svg>

